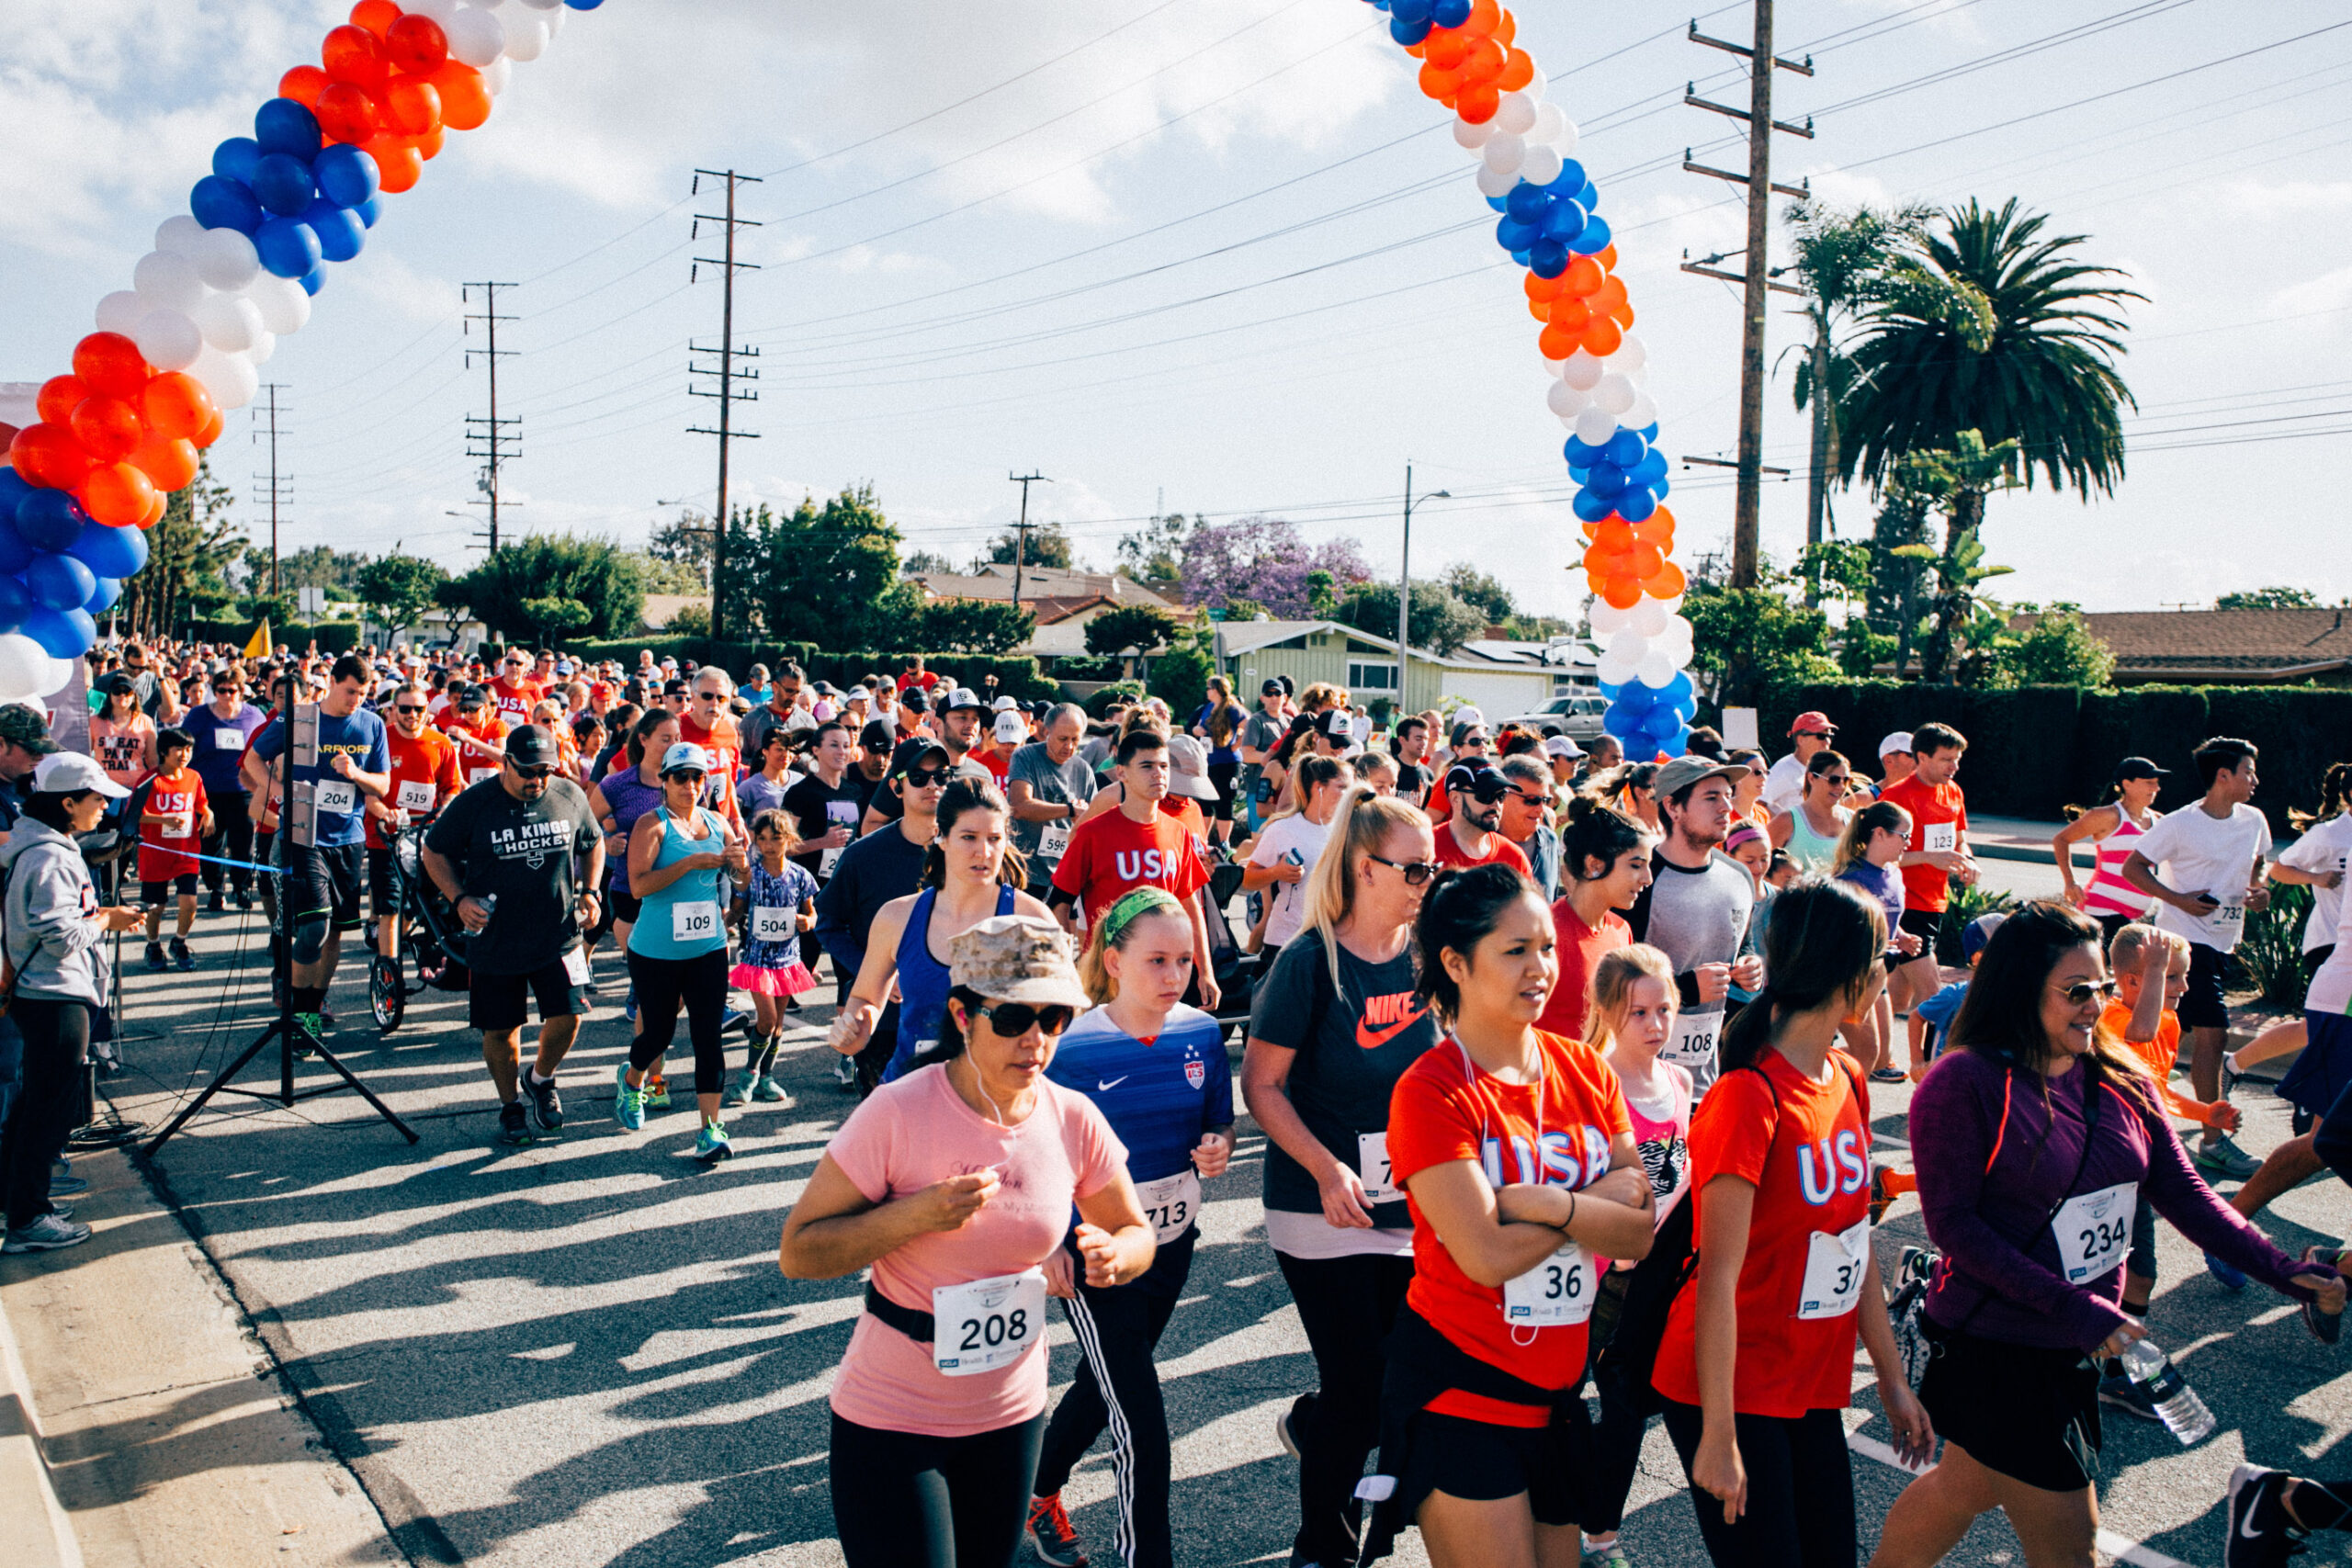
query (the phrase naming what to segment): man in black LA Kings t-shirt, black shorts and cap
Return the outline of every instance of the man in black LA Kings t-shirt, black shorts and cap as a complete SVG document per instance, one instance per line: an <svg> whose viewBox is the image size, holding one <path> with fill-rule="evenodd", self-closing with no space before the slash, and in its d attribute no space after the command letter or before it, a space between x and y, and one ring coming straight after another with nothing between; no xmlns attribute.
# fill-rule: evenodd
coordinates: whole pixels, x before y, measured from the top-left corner
<svg viewBox="0 0 2352 1568"><path fill-rule="evenodd" d="M499 776L442 809L426 832L423 867L468 931L466 1020L482 1030L482 1063L499 1091L499 1143L529 1143L532 1119L562 1131L555 1067L579 1034L576 987L588 978L581 933L600 914L604 835L588 813L588 792L560 776L546 726L510 733ZM539 999L539 1056L524 1084L527 997Z"/></svg>

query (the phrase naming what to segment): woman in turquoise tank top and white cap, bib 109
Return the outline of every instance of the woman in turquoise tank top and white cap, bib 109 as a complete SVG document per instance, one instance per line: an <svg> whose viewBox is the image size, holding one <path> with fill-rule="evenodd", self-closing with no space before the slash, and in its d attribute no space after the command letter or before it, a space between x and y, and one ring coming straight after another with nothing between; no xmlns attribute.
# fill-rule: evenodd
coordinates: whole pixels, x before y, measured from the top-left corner
<svg viewBox="0 0 2352 1568"><path fill-rule="evenodd" d="M637 893L637 922L628 931L628 978L637 992L637 1037L621 1065L614 1119L644 1126L644 1074L677 1034L677 1009L687 1009L694 1041L694 1098L703 1131L696 1159L734 1154L720 1124L727 1091L727 922L720 905L720 872L748 879L743 839L717 811L701 804L710 755L680 741L661 759L661 804L637 818L628 835L628 886Z"/></svg>

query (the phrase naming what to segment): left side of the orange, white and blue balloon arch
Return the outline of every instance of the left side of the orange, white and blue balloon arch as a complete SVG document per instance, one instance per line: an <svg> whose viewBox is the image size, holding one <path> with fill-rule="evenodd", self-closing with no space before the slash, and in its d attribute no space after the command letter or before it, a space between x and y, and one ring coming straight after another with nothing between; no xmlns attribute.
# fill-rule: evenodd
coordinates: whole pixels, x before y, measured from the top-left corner
<svg viewBox="0 0 2352 1568"><path fill-rule="evenodd" d="M0 425L0 703L66 684L146 564L143 529L195 480L223 411L254 400L278 339L308 324L325 263L360 254L379 193L416 186L445 132L487 122L510 61L539 59L567 7L602 2L360 0L254 134L214 148L188 214L99 301L73 374L42 383L38 423Z"/></svg>

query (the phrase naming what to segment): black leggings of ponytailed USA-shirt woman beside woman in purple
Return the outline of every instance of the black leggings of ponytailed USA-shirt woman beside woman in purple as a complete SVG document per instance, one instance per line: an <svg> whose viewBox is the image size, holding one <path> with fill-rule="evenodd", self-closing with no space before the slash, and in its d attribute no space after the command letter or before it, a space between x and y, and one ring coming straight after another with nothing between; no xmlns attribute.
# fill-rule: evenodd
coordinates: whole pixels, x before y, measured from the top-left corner
<svg viewBox="0 0 2352 1568"><path fill-rule="evenodd" d="M1842 1410L1806 1410L1795 1420L1736 1415L1733 1434L1748 1467L1748 1512L1724 1523L1724 1505L1691 1488L1698 1535L1715 1568L1853 1568L1853 1460ZM1665 1401L1665 1434L1689 1479L1705 1425L1698 1406Z"/></svg>

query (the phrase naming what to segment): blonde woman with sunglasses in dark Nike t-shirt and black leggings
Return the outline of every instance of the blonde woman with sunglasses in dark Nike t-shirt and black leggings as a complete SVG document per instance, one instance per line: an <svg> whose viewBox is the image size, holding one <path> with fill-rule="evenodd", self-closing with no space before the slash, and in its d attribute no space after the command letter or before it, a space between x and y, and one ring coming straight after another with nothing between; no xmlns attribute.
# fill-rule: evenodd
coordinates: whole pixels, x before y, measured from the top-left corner
<svg viewBox="0 0 2352 1568"><path fill-rule="evenodd" d="M1428 816L1348 790L1305 882L1308 924L1249 1013L1242 1095L1268 1140L1265 1239L1322 1382L1277 1422L1298 1458L1298 1563L1355 1561L1355 1483L1381 1436L1381 1347L1414 1279L1388 1100L1437 1041L1411 954L1435 872Z"/></svg>

